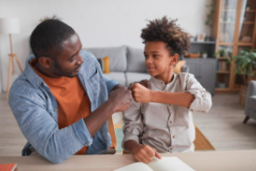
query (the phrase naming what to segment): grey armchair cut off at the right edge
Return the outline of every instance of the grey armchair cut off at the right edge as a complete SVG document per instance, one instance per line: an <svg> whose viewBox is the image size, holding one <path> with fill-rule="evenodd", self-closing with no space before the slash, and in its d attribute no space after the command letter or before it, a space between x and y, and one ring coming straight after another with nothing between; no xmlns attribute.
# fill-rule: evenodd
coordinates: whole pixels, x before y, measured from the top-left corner
<svg viewBox="0 0 256 171"><path fill-rule="evenodd" d="M248 122L249 118L256 119L256 81L249 82L245 114L244 124Z"/></svg>

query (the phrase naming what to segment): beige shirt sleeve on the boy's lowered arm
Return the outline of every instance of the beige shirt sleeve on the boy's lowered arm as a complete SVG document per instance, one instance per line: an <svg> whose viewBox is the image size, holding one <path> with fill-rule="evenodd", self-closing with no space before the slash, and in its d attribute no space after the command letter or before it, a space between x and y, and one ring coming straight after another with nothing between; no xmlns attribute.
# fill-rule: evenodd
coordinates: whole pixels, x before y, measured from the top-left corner
<svg viewBox="0 0 256 171"><path fill-rule="evenodd" d="M140 109L141 103L137 103L133 100L131 107L123 112L124 126L122 127L123 139L121 143L123 150L125 150L124 142L127 140L135 140L139 143L139 138L142 135L144 127Z"/></svg>

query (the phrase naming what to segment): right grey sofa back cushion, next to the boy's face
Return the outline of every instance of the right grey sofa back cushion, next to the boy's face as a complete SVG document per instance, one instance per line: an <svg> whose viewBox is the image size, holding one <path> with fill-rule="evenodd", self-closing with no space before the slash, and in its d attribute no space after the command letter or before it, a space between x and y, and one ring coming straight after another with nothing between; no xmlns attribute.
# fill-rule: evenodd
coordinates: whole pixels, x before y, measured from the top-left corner
<svg viewBox="0 0 256 171"><path fill-rule="evenodd" d="M145 57L143 49L133 48L128 46L127 48L127 72L145 72Z"/></svg>

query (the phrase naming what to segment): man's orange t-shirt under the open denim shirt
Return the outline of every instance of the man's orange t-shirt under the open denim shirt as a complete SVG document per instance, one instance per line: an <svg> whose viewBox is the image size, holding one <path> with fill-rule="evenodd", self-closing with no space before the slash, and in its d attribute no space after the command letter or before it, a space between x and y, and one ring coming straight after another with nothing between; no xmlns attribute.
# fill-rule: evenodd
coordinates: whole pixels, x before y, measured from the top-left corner
<svg viewBox="0 0 256 171"><path fill-rule="evenodd" d="M78 76L73 78L61 77L50 78L37 72L34 68L36 59L31 60L30 65L34 71L50 87L50 91L58 102L58 125L59 129L73 125L78 120L85 118L91 113L91 102ZM83 147L76 154L85 154L88 146Z"/></svg>

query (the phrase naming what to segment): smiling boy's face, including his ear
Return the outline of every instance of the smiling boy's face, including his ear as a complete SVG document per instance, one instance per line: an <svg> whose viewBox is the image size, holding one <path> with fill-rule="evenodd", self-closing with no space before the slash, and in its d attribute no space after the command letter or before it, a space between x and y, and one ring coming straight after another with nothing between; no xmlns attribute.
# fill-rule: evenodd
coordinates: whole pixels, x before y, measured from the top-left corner
<svg viewBox="0 0 256 171"><path fill-rule="evenodd" d="M145 66L151 76L163 77L173 71L178 54L170 55L164 42L148 42L144 49Z"/></svg>

